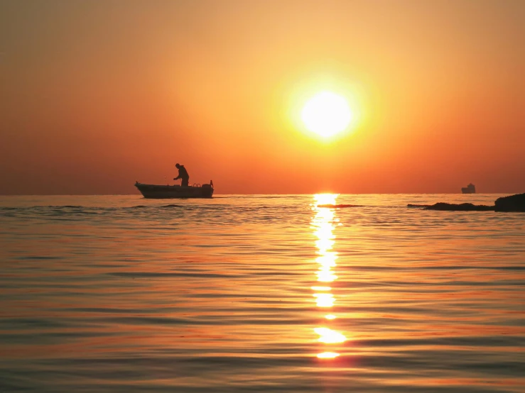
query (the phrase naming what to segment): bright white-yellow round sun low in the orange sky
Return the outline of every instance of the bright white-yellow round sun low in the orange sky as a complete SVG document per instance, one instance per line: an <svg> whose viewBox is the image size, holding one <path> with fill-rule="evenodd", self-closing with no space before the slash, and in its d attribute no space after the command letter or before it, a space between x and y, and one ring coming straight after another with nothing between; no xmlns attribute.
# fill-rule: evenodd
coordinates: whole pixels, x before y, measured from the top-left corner
<svg viewBox="0 0 525 393"><path fill-rule="evenodd" d="M344 131L350 125L352 111L343 96L320 92L305 104L301 118L308 130L327 138Z"/></svg>

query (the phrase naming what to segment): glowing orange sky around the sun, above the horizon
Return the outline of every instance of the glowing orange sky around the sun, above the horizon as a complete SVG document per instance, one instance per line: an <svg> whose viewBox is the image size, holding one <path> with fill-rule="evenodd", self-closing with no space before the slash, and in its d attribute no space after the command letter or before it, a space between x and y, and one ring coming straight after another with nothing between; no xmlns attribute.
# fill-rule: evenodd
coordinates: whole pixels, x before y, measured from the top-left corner
<svg viewBox="0 0 525 393"><path fill-rule="evenodd" d="M525 192L525 1L2 1L0 194ZM352 129L297 113L330 90ZM173 184L173 181L171 181Z"/></svg>

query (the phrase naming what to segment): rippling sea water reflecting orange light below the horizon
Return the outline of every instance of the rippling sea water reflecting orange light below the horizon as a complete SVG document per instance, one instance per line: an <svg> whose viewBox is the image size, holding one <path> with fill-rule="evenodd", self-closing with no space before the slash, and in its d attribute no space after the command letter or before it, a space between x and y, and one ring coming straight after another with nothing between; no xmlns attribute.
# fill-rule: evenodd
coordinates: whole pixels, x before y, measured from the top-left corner
<svg viewBox="0 0 525 393"><path fill-rule="evenodd" d="M498 196L0 196L0 392L525 392Z"/></svg>

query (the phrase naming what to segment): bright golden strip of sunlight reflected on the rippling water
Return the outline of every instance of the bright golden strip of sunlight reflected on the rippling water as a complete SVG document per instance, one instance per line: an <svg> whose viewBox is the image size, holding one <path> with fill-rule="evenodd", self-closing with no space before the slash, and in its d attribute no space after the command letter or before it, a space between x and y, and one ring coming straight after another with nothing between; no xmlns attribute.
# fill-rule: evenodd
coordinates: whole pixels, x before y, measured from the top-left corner
<svg viewBox="0 0 525 393"><path fill-rule="evenodd" d="M312 226L314 234L317 237L315 240L315 246L318 248L318 258L315 262L318 264L318 270L316 272L318 285L312 287L314 291L313 297L317 306L325 311L330 309L335 304L335 297L332 294L332 287L329 286L330 282L334 282L337 279L334 269L337 266L337 253L332 250L335 244L335 236L333 234L334 224L338 222L335 218L333 209L327 207L318 207L323 204L335 204L337 200L337 194L316 194L314 195L313 211L315 215L312 218ZM324 314L324 313L323 313ZM336 319L337 316L334 314L325 314L323 326L314 328L313 331L319 335L318 341L325 345L331 345L336 343L344 343L347 338L340 333L330 328L330 321ZM328 348L327 348L328 349ZM339 353L326 350L318 353L317 357L320 359L333 359L339 356Z"/></svg>

